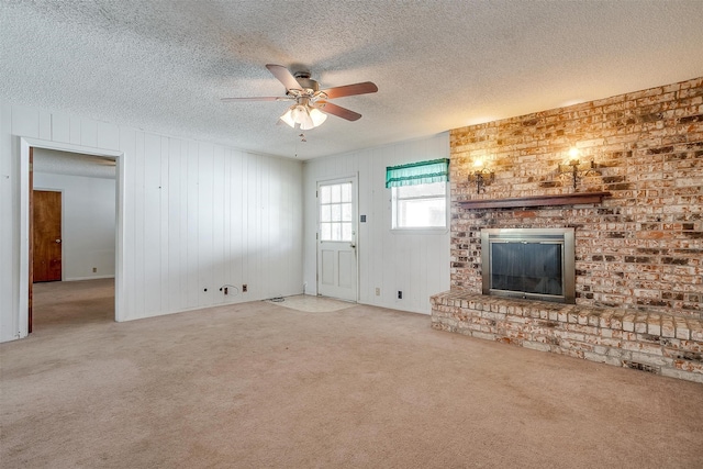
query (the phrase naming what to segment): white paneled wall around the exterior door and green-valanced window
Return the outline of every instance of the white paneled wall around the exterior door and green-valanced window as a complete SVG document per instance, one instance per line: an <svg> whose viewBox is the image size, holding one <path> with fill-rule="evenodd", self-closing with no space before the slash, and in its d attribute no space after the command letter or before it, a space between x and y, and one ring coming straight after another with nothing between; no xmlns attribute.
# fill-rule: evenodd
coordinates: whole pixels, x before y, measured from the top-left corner
<svg viewBox="0 0 703 469"><path fill-rule="evenodd" d="M315 189L320 180L358 175L359 302L429 314L429 297L449 289L449 232L399 234L391 232L391 192L386 167L449 157L449 135L308 160L304 186L305 291L316 292L317 223ZM380 295L376 295L376 289ZM403 299L398 299L398 291Z"/></svg>

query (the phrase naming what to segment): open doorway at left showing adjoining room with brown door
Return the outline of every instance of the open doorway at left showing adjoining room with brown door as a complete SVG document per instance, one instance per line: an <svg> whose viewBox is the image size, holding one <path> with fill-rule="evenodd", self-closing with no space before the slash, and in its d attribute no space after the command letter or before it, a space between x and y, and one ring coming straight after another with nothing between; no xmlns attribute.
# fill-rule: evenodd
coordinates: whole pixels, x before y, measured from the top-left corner
<svg viewBox="0 0 703 469"><path fill-rule="evenodd" d="M33 148L30 332L114 319L115 177L114 158Z"/></svg>

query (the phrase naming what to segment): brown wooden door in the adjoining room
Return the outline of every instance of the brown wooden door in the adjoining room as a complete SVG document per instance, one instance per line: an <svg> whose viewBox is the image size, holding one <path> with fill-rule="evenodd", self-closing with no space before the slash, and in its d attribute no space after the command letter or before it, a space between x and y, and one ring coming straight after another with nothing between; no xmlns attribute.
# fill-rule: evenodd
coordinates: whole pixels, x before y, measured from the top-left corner
<svg viewBox="0 0 703 469"><path fill-rule="evenodd" d="M62 193L35 190L32 214L34 282L62 279Z"/></svg>

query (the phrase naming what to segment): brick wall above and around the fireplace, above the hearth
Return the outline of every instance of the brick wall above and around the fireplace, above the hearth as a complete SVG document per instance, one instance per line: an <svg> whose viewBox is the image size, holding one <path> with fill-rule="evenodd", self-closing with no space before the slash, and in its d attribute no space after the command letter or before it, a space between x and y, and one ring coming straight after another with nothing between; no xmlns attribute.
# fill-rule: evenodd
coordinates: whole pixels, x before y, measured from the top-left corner
<svg viewBox="0 0 703 469"><path fill-rule="evenodd" d="M571 146L601 204L469 210L458 202L573 192ZM703 319L703 77L453 130L451 289L481 292L482 227L576 228L577 304ZM495 180L468 175L488 159Z"/></svg>

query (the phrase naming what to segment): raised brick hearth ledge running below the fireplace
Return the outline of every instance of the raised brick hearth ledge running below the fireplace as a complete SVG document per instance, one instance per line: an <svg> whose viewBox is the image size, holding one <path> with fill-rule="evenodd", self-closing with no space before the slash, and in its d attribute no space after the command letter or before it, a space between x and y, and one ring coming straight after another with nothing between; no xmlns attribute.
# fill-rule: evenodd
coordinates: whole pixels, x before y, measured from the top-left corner
<svg viewBox="0 0 703 469"><path fill-rule="evenodd" d="M703 322L472 294L432 297L432 327L703 383Z"/></svg>

